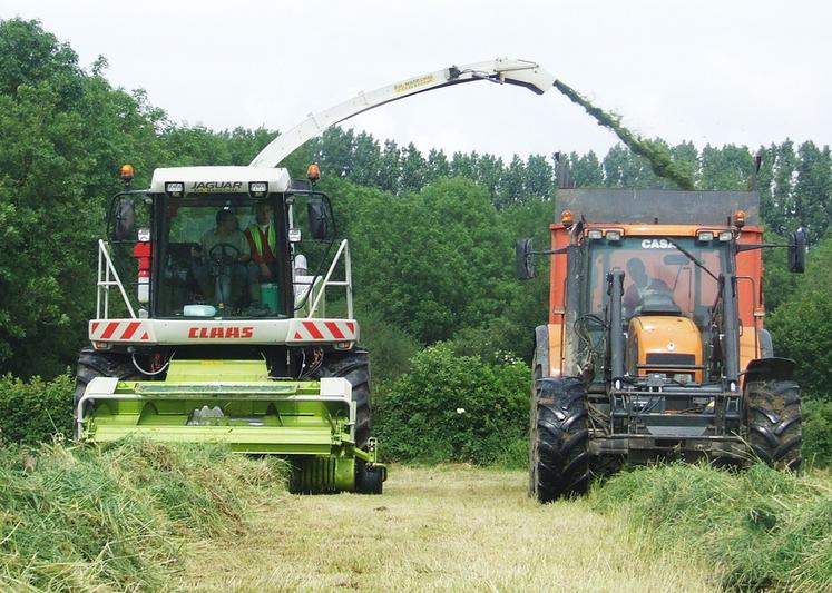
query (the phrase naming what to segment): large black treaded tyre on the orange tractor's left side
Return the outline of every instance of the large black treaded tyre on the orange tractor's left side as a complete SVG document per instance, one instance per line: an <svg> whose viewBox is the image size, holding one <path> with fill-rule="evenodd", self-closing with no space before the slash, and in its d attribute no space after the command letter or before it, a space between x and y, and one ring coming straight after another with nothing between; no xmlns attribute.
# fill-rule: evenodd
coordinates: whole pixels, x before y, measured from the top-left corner
<svg viewBox="0 0 832 593"><path fill-rule="evenodd" d="M587 395L577 378L541 378L531 401L531 495L541 503L589 487Z"/></svg>

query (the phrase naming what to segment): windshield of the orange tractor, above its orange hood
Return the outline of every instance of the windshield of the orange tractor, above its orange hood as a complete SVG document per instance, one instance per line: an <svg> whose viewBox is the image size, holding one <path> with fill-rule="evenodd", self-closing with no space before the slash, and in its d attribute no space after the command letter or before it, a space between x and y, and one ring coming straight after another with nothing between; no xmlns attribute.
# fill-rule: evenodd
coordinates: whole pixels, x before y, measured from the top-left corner
<svg viewBox="0 0 832 593"><path fill-rule="evenodd" d="M608 298L607 274L618 268L625 274L625 318L647 313L684 315L703 327L707 323L707 308L716 302L718 286L714 276L697 266L688 254L718 277L727 247L724 243L699 241L694 237L590 241L588 310L596 314L604 310Z"/></svg>

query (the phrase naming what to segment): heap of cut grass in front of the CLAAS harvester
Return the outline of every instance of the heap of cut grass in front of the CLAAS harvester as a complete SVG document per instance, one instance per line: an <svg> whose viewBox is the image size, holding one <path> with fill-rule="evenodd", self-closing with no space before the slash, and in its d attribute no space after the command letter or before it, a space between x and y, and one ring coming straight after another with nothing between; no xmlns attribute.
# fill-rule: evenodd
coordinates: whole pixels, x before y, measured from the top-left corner
<svg viewBox="0 0 832 593"><path fill-rule="evenodd" d="M281 462L223 447L0 447L0 590L164 587L182 536L242 532L284 484Z"/></svg>

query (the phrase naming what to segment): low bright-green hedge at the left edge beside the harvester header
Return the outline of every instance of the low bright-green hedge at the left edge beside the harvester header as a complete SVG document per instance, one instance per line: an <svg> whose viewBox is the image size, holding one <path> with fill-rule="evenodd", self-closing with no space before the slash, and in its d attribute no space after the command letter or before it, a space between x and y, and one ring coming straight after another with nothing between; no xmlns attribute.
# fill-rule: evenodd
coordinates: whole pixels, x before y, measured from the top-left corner
<svg viewBox="0 0 832 593"><path fill-rule="evenodd" d="M49 383L0 377L0 442L37 445L55 434L71 435L74 389L68 375Z"/></svg>

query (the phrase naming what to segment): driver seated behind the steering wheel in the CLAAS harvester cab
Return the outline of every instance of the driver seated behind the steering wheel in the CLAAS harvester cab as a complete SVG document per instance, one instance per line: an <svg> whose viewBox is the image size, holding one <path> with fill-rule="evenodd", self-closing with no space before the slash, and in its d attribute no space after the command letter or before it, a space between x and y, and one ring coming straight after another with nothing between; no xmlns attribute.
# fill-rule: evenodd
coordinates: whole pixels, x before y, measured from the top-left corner
<svg viewBox="0 0 832 593"><path fill-rule="evenodd" d="M203 296L213 296L217 303L238 304L246 285L246 265L252 256L236 215L227 208L219 210L216 228L203 233L199 246L193 253L194 275Z"/></svg>

